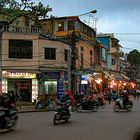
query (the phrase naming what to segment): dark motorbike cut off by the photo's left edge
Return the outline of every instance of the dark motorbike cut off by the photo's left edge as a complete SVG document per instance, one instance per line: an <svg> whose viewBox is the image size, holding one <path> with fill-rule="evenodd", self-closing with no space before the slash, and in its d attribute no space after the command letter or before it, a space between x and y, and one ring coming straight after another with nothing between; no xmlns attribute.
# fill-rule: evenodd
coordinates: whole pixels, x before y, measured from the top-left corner
<svg viewBox="0 0 140 140"><path fill-rule="evenodd" d="M15 129L18 120L17 112L16 108L8 109L0 106L0 133Z"/></svg>

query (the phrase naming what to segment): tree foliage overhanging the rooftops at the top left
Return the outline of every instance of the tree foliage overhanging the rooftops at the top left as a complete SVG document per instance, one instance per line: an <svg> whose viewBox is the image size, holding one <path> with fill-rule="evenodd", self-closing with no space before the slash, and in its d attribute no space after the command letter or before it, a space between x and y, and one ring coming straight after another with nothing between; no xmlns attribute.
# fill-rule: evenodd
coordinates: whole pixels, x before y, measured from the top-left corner
<svg viewBox="0 0 140 140"><path fill-rule="evenodd" d="M6 17L8 21L12 21L16 17L30 13L34 19L47 17L48 12L52 8L49 5L44 6L41 2L35 3L33 0L0 0L0 16Z"/></svg>

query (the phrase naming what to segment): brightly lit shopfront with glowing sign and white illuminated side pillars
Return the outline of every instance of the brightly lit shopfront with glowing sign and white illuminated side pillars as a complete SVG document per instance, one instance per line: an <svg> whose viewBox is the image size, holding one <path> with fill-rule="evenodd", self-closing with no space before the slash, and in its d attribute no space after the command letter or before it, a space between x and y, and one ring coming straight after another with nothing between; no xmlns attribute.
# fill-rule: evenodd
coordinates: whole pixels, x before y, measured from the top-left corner
<svg viewBox="0 0 140 140"><path fill-rule="evenodd" d="M17 101L34 101L38 94L35 73L2 72L2 92L14 91Z"/></svg>

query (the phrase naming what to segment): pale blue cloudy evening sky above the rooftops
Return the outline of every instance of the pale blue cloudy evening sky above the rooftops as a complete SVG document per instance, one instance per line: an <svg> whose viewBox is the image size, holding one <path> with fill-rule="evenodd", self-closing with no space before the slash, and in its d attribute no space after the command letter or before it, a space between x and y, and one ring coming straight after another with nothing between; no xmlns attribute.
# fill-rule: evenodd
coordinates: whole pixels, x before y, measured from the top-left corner
<svg viewBox="0 0 140 140"><path fill-rule="evenodd" d="M140 0L36 0L39 1L53 9L49 15L57 17L78 16L97 10L90 19L89 15L80 19L90 23L91 27L96 19L97 33L114 33L122 51L140 51Z"/></svg>

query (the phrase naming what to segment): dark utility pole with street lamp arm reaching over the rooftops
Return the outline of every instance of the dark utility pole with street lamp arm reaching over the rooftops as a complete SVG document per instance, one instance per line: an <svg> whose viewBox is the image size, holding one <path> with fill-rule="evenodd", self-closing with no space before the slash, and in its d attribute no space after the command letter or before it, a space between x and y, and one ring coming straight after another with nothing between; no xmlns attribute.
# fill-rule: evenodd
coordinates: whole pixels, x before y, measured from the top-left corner
<svg viewBox="0 0 140 140"><path fill-rule="evenodd" d="M95 14L97 13L97 10L92 10L90 12L78 15L77 17L81 17L83 15L87 14ZM76 37L75 37L75 27L73 28L73 32L71 34L71 91L72 94L76 93Z"/></svg>

